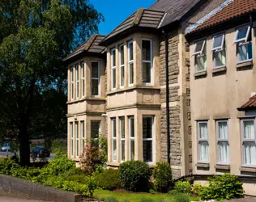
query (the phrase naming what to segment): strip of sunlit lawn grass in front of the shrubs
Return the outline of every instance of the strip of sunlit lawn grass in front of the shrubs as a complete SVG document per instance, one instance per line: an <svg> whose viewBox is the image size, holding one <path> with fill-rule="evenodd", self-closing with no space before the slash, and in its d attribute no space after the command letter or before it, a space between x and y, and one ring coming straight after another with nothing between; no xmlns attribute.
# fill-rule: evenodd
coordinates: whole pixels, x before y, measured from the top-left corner
<svg viewBox="0 0 256 202"><path fill-rule="evenodd" d="M147 198L151 200L173 200L173 196L169 194L151 194L151 193L129 193L129 192L115 192L107 190L96 190L93 194L94 197L104 200L106 197L113 196L118 201L128 200L130 202L139 202L141 199ZM191 197L191 200L199 201L198 197Z"/></svg>

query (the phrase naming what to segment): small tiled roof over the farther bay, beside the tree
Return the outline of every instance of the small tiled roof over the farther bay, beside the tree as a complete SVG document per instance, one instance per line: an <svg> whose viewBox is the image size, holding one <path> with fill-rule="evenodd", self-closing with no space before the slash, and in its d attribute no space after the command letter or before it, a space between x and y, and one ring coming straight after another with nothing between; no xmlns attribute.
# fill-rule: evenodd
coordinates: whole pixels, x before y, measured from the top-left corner
<svg viewBox="0 0 256 202"><path fill-rule="evenodd" d="M105 36L100 35L92 35L89 39L80 44L78 48L75 48L75 51L67 56L63 61L68 61L70 58L77 56L79 53L104 53L105 46L100 46L101 40L103 40Z"/></svg>

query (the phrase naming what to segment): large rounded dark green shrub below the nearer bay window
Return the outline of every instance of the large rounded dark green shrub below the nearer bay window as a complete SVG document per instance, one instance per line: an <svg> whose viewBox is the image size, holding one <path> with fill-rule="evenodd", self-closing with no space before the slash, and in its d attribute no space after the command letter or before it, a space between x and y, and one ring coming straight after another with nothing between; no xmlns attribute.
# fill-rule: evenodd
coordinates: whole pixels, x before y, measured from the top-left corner
<svg viewBox="0 0 256 202"><path fill-rule="evenodd" d="M128 191L147 191L151 170L141 161L123 162L119 166L122 187Z"/></svg>

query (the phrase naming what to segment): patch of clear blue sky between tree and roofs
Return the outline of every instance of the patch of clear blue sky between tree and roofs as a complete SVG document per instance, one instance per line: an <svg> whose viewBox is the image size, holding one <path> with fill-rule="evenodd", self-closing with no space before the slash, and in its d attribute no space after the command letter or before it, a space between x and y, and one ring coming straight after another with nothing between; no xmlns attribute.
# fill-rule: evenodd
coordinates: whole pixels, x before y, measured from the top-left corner
<svg viewBox="0 0 256 202"><path fill-rule="evenodd" d="M105 17L105 22L100 23L99 26L100 34L108 35L134 11L147 8L156 0L90 0L90 2Z"/></svg>

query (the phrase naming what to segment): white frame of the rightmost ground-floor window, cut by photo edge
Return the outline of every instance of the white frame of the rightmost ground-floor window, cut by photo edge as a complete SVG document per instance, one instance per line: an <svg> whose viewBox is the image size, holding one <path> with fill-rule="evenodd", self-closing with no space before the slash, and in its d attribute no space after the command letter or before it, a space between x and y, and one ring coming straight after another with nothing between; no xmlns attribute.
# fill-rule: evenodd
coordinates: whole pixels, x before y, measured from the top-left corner
<svg viewBox="0 0 256 202"><path fill-rule="evenodd" d="M244 122L245 121L254 121L254 139L245 139L245 134L244 134ZM253 119L242 119L241 120L241 150L242 150L242 166L246 167L256 167L256 165L248 165L245 164L245 144L244 142L254 142L256 143L256 120L255 118Z"/></svg>

